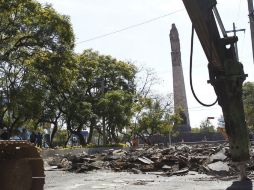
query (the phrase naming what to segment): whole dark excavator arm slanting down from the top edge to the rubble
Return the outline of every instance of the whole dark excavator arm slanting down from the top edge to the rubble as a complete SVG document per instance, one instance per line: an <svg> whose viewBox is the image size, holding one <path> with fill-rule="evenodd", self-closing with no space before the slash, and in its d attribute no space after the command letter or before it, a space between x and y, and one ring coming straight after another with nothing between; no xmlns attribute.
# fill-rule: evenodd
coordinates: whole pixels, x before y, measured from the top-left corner
<svg viewBox="0 0 254 190"><path fill-rule="evenodd" d="M183 0L193 27L208 59L210 83L222 108L232 160L249 160L249 138L242 101L242 84L246 78L235 52L237 37L220 36L216 0Z"/></svg>

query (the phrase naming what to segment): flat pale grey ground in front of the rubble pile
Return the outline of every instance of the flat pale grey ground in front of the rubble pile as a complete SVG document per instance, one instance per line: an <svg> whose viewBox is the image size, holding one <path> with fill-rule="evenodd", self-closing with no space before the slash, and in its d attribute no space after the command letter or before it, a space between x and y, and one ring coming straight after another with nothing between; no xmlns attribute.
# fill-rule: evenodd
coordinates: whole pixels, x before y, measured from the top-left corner
<svg viewBox="0 0 254 190"><path fill-rule="evenodd" d="M75 174L46 171L45 190L253 190L251 180L237 181L236 177L215 178L189 172L185 176L164 177L155 174L93 171Z"/></svg>

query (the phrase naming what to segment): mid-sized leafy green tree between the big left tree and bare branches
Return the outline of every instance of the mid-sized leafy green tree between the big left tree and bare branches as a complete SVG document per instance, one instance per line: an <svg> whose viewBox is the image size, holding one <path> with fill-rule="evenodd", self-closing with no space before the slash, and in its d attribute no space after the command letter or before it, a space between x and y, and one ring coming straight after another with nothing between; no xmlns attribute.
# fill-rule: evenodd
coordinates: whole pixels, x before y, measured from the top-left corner
<svg viewBox="0 0 254 190"><path fill-rule="evenodd" d="M86 123L104 137L104 143L119 141L119 133L131 119L135 94L134 65L118 61L96 51L85 50L78 58L76 85L83 94L83 101L91 105L91 117Z"/></svg>

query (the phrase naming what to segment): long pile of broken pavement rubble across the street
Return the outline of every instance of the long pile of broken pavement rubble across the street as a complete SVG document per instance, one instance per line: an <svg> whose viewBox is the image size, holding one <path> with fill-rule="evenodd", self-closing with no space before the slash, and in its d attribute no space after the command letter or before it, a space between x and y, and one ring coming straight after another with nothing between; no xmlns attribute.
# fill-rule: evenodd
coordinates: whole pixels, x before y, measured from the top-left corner
<svg viewBox="0 0 254 190"><path fill-rule="evenodd" d="M184 175L196 171L210 175L234 175L237 168L230 161L229 148L224 145L179 145L170 148L138 148L107 150L100 154L57 155L48 160L50 166L71 172L98 169ZM249 169L253 166L248 165Z"/></svg>

